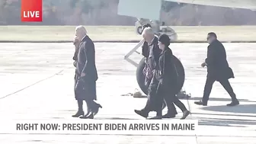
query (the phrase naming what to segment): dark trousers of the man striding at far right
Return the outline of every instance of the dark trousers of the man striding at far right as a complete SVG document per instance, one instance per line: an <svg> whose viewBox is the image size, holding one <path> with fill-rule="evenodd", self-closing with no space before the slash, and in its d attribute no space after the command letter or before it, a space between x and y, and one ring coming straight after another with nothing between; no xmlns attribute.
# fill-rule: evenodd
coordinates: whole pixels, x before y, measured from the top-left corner
<svg viewBox="0 0 256 144"><path fill-rule="evenodd" d="M229 79L228 78L223 78L221 80L218 80L219 83L222 85L223 88L225 88L225 90L229 93L230 97L232 98L232 101L237 100L235 93L233 91L233 88L231 87L230 83L229 83ZM214 77L213 75L207 75L206 78L206 84L204 86L204 91L203 91L203 102L206 102L209 100L210 97L210 92L212 91L213 88L213 83L216 82L216 77Z"/></svg>

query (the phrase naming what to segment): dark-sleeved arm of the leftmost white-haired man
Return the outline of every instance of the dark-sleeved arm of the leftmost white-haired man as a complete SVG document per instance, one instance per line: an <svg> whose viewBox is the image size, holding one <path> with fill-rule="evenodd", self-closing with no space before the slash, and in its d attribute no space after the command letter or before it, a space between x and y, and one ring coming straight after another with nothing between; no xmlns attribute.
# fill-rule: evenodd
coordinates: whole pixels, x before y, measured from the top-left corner
<svg viewBox="0 0 256 144"><path fill-rule="evenodd" d="M86 75L88 70L91 69L91 67L94 65L94 57L95 57L94 44L86 42L83 49L85 52L86 62L85 62L84 68L82 69L82 73Z"/></svg>

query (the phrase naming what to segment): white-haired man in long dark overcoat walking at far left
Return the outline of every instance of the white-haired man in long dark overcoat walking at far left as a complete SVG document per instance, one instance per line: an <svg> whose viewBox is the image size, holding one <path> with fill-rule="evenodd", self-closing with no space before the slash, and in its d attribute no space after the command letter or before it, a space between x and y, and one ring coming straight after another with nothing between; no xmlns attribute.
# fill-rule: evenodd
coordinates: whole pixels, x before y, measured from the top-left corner
<svg viewBox="0 0 256 144"><path fill-rule="evenodd" d="M101 104L94 101L96 100L96 81L98 80L94 43L88 37L85 27L78 26L76 36L80 40L75 65L75 99L78 101L78 112L72 117L82 116L80 117L82 119L93 119L101 107ZM87 104L87 114L84 113L82 107L83 101Z"/></svg>

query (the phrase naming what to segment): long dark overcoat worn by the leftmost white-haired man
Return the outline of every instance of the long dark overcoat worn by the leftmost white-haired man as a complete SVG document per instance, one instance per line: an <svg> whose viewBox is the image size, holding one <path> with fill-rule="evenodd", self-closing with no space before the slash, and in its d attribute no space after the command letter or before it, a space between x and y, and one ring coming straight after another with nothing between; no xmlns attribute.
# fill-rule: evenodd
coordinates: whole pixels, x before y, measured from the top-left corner
<svg viewBox="0 0 256 144"><path fill-rule="evenodd" d="M85 76L81 77L81 73ZM92 40L85 36L78 49L78 61L76 65L77 84L75 98L96 100L96 81L98 72L95 65L95 49Z"/></svg>

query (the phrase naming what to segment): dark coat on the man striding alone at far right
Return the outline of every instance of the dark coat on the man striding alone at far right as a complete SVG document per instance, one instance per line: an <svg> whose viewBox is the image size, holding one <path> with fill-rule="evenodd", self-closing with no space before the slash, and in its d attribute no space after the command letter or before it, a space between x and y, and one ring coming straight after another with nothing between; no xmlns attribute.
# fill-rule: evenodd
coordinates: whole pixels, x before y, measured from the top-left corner
<svg viewBox="0 0 256 144"><path fill-rule="evenodd" d="M207 48L207 76L221 81L229 78L235 78L232 69L226 59L226 50L219 40L214 40Z"/></svg>

